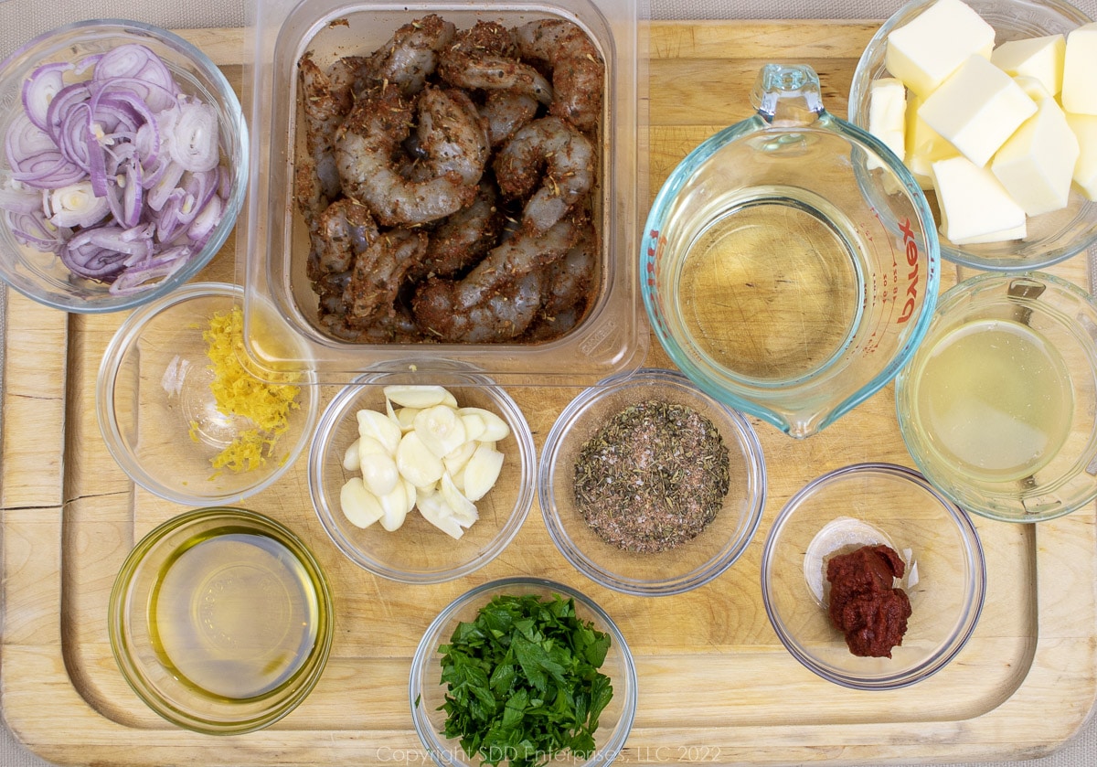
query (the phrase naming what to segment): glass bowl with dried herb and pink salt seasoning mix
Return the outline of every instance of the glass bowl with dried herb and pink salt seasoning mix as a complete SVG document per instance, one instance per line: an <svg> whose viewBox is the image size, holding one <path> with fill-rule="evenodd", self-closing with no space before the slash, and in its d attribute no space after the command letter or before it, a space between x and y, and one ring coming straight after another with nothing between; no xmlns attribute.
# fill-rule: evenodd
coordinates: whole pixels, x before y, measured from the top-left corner
<svg viewBox="0 0 1097 767"><path fill-rule="evenodd" d="M541 451L538 493L556 548L602 586L667 596L724 573L754 538L766 463L749 421L677 371L584 390Z"/></svg>

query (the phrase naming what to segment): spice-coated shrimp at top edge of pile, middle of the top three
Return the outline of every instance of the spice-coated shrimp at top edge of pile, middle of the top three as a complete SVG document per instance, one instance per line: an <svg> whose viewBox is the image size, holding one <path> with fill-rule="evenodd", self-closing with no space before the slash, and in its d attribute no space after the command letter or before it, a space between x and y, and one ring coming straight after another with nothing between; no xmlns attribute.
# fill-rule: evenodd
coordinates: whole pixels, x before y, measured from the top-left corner
<svg viewBox="0 0 1097 767"><path fill-rule="evenodd" d="M459 32L439 57L438 75L459 88L516 91L543 104L553 100L552 86L536 69L518 60L507 27L497 22L477 22Z"/></svg>

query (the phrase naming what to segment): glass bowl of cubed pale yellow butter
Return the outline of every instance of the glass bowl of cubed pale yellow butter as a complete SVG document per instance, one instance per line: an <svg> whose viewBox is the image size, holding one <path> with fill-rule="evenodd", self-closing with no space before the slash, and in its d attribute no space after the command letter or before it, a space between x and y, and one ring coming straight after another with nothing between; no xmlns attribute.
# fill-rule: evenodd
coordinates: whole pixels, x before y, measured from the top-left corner
<svg viewBox="0 0 1097 767"><path fill-rule="evenodd" d="M1059 0L915 0L861 55L849 120L926 191L941 256L994 271L1097 240L1097 23Z"/></svg>

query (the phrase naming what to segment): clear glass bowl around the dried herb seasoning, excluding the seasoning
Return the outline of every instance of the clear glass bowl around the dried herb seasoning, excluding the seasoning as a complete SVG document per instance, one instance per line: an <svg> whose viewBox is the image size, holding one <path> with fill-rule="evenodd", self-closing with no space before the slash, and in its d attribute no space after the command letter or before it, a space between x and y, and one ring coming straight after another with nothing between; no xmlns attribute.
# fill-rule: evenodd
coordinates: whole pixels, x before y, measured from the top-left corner
<svg viewBox="0 0 1097 767"><path fill-rule="evenodd" d="M728 489L715 500L715 517L695 537L682 535L685 540L671 548L652 551L642 533L633 530L621 542L634 541L634 548L648 550L630 551L609 542L614 534L603 537L588 523L588 512L583 510L576 493L579 456L614 416L652 399L691 408L715 426L727 449ZM626 460L632 463L632 459L630 455ZM545 438L538 473L545 527L564 557L591 580L640 596L681 594L717 577L746 550L766 505L766 464L750 424L681 373L669 370L644 369L585 390L568 404ZM663 472L651 471L647 476L654 482L663 477ZM593 501L586 506L591 516L599 516ZM682 521L671 519L677 538Z"/></svg>

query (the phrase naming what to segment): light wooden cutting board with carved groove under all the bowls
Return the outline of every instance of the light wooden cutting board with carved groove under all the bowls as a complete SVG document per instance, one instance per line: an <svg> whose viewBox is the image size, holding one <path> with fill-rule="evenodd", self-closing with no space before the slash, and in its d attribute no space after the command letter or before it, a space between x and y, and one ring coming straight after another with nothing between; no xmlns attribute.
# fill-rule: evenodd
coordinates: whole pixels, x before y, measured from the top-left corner
<svg viewBox="0 0 1097 767"><path fill-rule="evenodd" d="M750 113L767 61L806 63L828 109L846 111L875 22L680 22L651 26L649 193L714 131ZM239 82L239 31L199 43ZM1088 287L1078 257L1051 271ZM231 281L231 245L201 275ZM962 274L946 266L942 282ZM536 572L591 595L635 655L640 702L621 764L882 764L1020 759L1068 738L1097 697L1097 532L1087 508L1039 527L977 520L989 585L980 624L945 670L901 691L825 683L781 647L759 594L765 534L803 484L859 461L912 465L892 387L805 441L754 421L768 465L761 527L714 583L664 599L626 597L576 574L535 506L497 561L455 583L376 579L331 546L312 511L304 462L248 506L301 534L333 583L337 639L319 686L291 715L249 735L179 731L150 713L111 657L105 612L122 560L182 509L135 488L103 447L93 384L117 316L66 316L18 295L8 307L0 510L0 695L31 751L59 764L123 766L429 763L411 729L410 656L430 619L488 579ZM646 361L667 365L657 345ZM516 390L538 448L574 391ZM326 396L331 393L327 392Z"/></svg>

